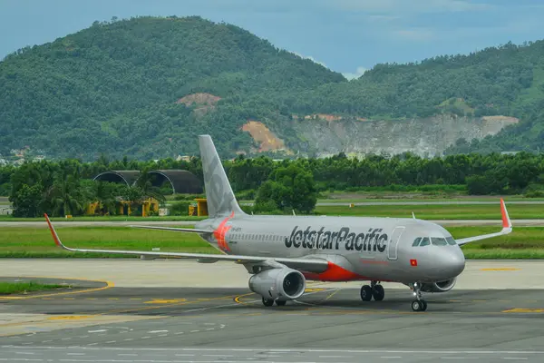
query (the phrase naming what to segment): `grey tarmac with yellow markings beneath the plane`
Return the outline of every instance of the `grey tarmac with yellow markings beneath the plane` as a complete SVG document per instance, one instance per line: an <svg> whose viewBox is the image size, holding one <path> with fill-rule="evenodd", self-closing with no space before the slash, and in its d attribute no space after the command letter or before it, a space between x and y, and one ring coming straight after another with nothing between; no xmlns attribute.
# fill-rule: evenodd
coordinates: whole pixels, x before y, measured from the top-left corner
<svg viewBox="0 0 544 363"><path fill-rule="evenodd" d="M467 261L457 285L425 293L308 282L262 305L239 265L188 260L1 260L2 280L65 288L0 297L7 362L544 361L544 261ZM41 276L41 278L39 278Z"/></svg>

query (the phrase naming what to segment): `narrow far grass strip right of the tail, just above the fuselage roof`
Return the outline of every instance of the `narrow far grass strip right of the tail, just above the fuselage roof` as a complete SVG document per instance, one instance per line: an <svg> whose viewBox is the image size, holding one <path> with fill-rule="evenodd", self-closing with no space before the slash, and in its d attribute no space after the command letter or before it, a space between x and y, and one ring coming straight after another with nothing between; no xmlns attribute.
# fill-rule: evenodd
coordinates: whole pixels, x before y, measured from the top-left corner
<svg viewBox="0 0 544 363"><path fill-rule="evenodd" d="M544 205L507 205L510 219L544 218ZM339 216L410 218L412 212L422 220L500 220L499 204L472 205L347 205L318 206L316 214Z"/></svg>

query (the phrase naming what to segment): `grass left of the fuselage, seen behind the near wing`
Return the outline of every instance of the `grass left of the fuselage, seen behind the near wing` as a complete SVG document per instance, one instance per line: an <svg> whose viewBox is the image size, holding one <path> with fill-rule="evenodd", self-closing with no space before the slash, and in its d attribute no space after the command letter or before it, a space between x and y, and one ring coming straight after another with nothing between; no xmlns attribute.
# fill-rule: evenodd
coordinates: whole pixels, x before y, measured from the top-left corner
<svg viewBox="0 0 544 363"><path fill-rule="evenodd" d="M105 250L160 250L218 253L193 233L141 230L130 227L59 227L56 229L69 247ZM120 258L102 253L76 253L57 248L44 228L0 228L0 258Z"/></svg>

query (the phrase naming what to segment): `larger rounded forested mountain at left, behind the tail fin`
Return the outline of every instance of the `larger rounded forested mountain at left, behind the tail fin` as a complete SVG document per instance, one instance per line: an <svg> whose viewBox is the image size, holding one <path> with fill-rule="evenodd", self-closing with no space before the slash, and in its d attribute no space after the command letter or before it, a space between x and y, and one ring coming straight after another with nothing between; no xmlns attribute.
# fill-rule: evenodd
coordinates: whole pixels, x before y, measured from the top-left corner
<svg viewBox="0 0 544 363"><path fill-rule="evenodd" d="M54 156L171 156L197 152L203 132L231 152L252 144L239 129L267 113L270 94L338 82L341 74L234 25L95 22L0 63L0 153L30 145ZM183 99L194 93L208 93L216 112L202 97Z"/></svg>

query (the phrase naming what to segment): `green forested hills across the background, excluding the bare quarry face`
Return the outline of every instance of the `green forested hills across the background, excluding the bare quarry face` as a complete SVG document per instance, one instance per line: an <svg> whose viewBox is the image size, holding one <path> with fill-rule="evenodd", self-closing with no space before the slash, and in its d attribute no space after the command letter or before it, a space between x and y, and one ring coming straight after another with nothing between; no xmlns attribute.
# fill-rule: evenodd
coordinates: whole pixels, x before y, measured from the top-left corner
<svg viewBox="0 0 544 363"><path fill-rule="evenodd" d="M543 106L542 41L377 64L348 82L234 25L141 17L95 22L0 62L0 153L30 145L47 157L151 159L198 153L195 136L209 133L228 156L259 149L241 130L250 120L292 152L318 152L299 132L316 113L336 117L331 129L442 113L474 123L515 116L520 123L499 135L447 152L530 151L544 146Z"/></svg>

